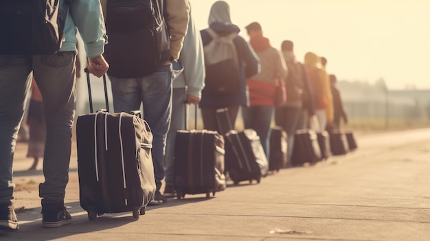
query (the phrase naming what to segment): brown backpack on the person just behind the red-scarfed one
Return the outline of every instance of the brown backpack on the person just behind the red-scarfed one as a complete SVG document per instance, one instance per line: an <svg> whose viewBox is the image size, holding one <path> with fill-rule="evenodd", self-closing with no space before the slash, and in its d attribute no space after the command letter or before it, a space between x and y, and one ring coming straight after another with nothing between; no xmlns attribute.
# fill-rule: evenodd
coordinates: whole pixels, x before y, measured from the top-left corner
<svg viewBox="0 0 430 241"><path fill-rule="evenodd" d="M286 102L302 101L303 92L303 66L299 62L286 62L288 76L285 80Z"/></svg>

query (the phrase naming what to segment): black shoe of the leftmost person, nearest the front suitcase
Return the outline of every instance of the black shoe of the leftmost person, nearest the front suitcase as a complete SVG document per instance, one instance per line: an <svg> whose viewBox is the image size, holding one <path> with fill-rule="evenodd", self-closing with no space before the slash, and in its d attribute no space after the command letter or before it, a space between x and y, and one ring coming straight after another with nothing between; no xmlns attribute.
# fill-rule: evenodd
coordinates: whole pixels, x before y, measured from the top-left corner
<svg viewBox="0 0 430 241"><path fill-rule="evenodd" d="M42 205L43 227L61 227L71 223L71 216L63 203L45 203Z"/></svg>

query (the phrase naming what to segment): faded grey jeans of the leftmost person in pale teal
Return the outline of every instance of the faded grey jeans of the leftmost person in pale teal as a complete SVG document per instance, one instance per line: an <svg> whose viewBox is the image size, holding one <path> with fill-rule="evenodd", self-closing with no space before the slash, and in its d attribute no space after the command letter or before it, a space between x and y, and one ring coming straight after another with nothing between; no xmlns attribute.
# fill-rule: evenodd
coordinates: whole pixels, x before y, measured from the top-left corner
<svg viewBox="0 0 430 241"><path fill-rule="evenodd" d="M39 185L39 196L42 203L63 202L75 115L75 60L74 52L0 56L0 202L13 199L12 161L32 71L42 93L46 123L45 182Z"/></svg>

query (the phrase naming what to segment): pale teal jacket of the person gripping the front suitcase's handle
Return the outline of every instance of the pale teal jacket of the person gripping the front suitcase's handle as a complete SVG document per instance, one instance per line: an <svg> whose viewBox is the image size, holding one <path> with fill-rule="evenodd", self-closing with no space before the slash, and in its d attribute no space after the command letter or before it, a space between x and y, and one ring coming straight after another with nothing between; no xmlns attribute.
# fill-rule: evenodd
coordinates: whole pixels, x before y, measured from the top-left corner
<svg viewBox="0 0 430 241"><path fill-rule="evenodd" d="M61 1L60 8L64 8L65 1ZM65 41L60 51L75 51L76 34L79 34L85 45L89 58L100 56L104 52L106 30L100 1L72 0L69 1L69 12L65 22Z"/></svg>

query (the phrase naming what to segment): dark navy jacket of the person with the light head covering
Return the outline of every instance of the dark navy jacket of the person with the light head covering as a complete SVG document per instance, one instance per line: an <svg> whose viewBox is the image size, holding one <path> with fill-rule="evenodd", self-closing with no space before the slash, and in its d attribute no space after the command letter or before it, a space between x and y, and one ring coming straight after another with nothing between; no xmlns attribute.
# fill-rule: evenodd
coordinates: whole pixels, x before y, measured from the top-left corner
<svg viewBox="0 0 430 241"><path fill-rule="evenodd" d="M233 24L224 24L224 23L212 23L210 25L212 30L216 32L216 34L223 36L228 35L234 32L240 32L238 26ZM212 37L206 30L201 30L201 38L203 40L203 46L208 45L210 41L212 41ZM238 59L240 62L240 90L238 94L234 95L205 95L203 94L201 97L201 102L199 104L200 107L216 107L222 108L229 105L241 105L248 106L249 105L249 96L248 96L248 88L247 88L247 78L255 75L259 72L260 65L258 62L258 57L251 50L247 41L245 41L242 36L237 36L234 38L234 45L236 46L236 51L238 51Z"/></svg>

